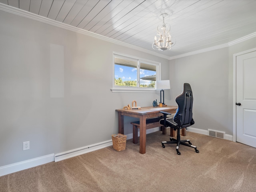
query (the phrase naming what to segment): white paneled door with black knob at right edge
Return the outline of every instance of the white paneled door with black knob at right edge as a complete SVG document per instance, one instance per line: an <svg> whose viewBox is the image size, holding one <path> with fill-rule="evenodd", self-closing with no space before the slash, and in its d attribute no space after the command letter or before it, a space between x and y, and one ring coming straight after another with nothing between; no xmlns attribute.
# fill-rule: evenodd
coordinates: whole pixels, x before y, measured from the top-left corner
<svg viewBox="0 0 256 192"><path fill-rule="evenodd" d="M236 57L236 78L236 141L256 147L256 51Z"/></svg>

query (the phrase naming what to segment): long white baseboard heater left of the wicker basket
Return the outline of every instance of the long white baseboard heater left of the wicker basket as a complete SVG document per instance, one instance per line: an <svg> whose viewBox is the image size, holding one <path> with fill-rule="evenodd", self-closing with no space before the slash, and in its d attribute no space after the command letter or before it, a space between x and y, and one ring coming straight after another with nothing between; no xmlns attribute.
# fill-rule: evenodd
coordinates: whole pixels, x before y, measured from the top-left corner
<svg viewBox="0 0 256 192"><path fill-rule="evenodd" d="M69 150L69 151L66 151L66 152L55 154L54 155L54 161L58 162L58 161L61 161L61 160L64 160L64 159L68 159L68 158L71 158L71 157L74 157L74 156L82 155L82 154L92 152L92 151L102 149L102 148L112 146L112 145L113 145L112 140L108 140L108 141L93 144L93 145L90 145L90 146L85 146L85 147L77 148L77 149L74 149L74 150Z"/></svg>

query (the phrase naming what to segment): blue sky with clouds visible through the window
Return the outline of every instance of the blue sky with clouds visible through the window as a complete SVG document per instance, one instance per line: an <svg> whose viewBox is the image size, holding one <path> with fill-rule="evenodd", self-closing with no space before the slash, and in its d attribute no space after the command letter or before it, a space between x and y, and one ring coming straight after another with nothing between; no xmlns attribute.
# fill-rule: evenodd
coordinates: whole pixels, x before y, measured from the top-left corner
<svg viewBox="0 0 256 192"><path fill-rule="evenodd" d="M150 71L150 70L140 70L140 78L144 76L150 76L150 75L155 75L155 71ZM134 81L137 80L137 69L128 67L128 66L122 66L122 65L117 65L115 64L115 78L122 78L123 81ZM140 80L141 84L149 84L150 81L148 80Z"/></svg>

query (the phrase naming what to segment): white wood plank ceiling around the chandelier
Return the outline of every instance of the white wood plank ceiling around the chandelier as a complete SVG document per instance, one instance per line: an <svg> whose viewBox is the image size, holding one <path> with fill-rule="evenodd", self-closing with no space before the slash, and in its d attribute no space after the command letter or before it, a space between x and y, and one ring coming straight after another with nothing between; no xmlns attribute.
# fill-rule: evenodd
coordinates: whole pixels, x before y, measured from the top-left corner
<svg viewBox="0 0 256 192"><path fill-rule="evenodd" d="M167 57L186 55L256 36L256 0L0 0ZM176 39L171 50L152 49L160 14Z"/></svg>

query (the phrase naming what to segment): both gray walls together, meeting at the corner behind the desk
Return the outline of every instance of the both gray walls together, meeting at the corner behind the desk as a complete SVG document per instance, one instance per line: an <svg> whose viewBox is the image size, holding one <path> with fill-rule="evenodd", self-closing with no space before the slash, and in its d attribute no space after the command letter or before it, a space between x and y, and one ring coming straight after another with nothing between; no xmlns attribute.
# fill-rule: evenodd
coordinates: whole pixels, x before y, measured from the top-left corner
<svg viewBox="0 0 256 192"><path fill-rule="evenodd" d="M165 102L176 105L189 82L193 127L232 135L232 56L256 42L168 61L2 10L0 27L0 166L110 140L118 132L115 109L159 99L159 93L110 91L113 51L161 62L162 80L171 80ZM52 71L58 70L52 69L52 45L63 48L61 88L53 83ZM124 134L132 133L130 120L125 118ZM22 150L24 141L30 150Z"/></svg>

